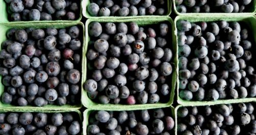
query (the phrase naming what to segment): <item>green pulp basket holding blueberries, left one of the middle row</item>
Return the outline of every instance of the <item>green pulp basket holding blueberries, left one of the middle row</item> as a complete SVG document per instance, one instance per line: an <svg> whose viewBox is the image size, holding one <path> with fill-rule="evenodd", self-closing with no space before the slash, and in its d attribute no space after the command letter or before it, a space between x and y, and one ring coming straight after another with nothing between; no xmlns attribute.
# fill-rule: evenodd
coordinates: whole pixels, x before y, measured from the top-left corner
<svg viewBox="0 0 256 135"><path fill-rule="evenodd" d="M83 37L83 46L84 46L84 41L85 41L85 28L84 24L79 21L74 21L74 22L52 22L52 23L45 23L45 22L40 22L40 23L0 23L0 43L5 41L7 39L6 37L6 32L11 29L11 28L16 28L16 29L25 29L25 28L36 28L36 29L44 29L44 28L56 28L56 29L61 29L61 28L68 28L73 25L78 25L80 28L80 33L83 34L81 37ZM81 54L82 55L82 54ZM82 74L81 74L82 75ZM2 84L2 76L0 76L0 96L5 91L4 85ZM81 86L81 85L80 85ZM81 86L82 87L82 86ZM80 93L81 94L81 93ZM82 107L82 103L80 102L79 104L76 105L45 105L42 107L37 107L37 106L14 106L11 104L4 104L3 102L0 101L0 109L9 109L9 110L30 110L30 111L38 111L38 110L73 110L73 109L80 109Z"/></svg>

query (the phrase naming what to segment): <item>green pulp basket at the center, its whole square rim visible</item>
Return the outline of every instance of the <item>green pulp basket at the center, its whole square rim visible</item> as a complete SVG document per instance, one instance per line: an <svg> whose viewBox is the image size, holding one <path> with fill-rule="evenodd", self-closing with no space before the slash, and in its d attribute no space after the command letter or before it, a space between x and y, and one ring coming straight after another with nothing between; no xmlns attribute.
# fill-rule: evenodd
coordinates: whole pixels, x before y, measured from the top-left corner
<svg viewBox="0 0 256 135"><path fill-rule="evenodd" d="M171 24L171 29L172 29L172 37L170 37L172 39L172 44L169 44L171 47L173 48L173 54L176 53L177 51L177 46L175 43L175 39L174 39L174 24L173 21L170 17L158 17L158 18L132 18L132 19L102 19L102 18L90 18L86 21L85 25L86 25L86 43L85 43L85 47L83 50L83 60L82 60L82 83L84 83L86 81L86 73L87 73L87 60L86 60L86 51L88 48L88 42L90 41L90 37L88 34L88 25L90 22L92 21L97 21L97 22L136 22L139 26L143 26L143 25L149 25L149 24L156 24L159 22L163 22L163 21L168 21ZM170 35L171 36L171 35ZM166 107L170 104L172 104L173 102L173 97L174 97L174 91L175 91L175 82L176 82L176 74L177 74L177 58L175 57L175 55L173 56L173 63L172 65L173 67L173 73L172 73L172 78L171 78L171 82L169 82L171 88L171 92L170 92L170 99L167 103L155 103L155 104L135 104L135 105L122 105L122 104L100 104L100 103L96 103L93 102L89 97L87 92L84 90L84 88L82 87L82 103L85 107L90 108L90 109L94 109L94 110L101 110L101 109L113 109L114 110L134 110L134 109L144 109L147 107Z"/></svg>

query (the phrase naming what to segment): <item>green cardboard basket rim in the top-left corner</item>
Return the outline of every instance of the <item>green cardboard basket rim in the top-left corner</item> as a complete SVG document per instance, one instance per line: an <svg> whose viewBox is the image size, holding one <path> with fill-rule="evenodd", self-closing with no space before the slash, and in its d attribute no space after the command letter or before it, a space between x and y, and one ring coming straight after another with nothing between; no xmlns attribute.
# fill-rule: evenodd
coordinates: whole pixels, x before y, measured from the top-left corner
<svg viewBox="0 0 256 135"><path fill-rule="evenodd" d="M78 1L78 0L75 0L75 1ZM0 1L0 6L1 6L1 8L0 8L0 23L2 23L2 22L12 22L12 23L31 23L31 22L73 22L73 21L81 21L81 19L82 19L82 1L81 0L79 0L80 1L80 3L78 3L79 5L80 5L80 12L79 12L79 17L78 17L78 19L76 19L76 20L38 20L38 21L10 21L9 19L8 19L8 13L7 13L7 5L8 4L6 4L5 3L5 0L1 0ZM75 14L76 15L76 14Z"/></svg>

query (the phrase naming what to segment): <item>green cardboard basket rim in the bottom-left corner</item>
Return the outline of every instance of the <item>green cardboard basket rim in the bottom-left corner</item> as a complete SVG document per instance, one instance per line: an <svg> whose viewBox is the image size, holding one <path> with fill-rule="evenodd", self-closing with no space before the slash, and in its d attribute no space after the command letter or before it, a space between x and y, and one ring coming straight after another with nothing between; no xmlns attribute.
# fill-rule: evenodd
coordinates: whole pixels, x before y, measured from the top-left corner
<svg viewBox="0 0 256 135"><path fill-rule="evenodd" d="M39 111L39 110L26 110L26 109L17 109L17 110L10 110L10 109L0 109L0 113L23 113L23 112L30 112L30 113L73 113L75 114L74 117L75 118L79 118L77 119L80 123L80 132L81 135L83 135L83 119L82 119L82 114L79 110L69 110L69 111L65 111L65 110L59 110L59 111L49 111L49 110L43 110L43 111Z"/></svg>

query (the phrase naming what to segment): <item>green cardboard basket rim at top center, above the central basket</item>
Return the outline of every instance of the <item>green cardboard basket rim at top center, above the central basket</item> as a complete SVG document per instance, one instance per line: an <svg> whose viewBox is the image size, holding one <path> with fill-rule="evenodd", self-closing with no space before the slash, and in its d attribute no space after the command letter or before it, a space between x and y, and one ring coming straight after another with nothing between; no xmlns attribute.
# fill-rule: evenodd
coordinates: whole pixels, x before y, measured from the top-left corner
<svg viewBox="0 0 256 135"><path fill-rule="evenodd" d="M160 15L143 15L143 16L91 16L87 11L87 6L91 3L91 0L82 0L82 8L83 8L83 16L86 18L111 18L111 19L131 19L131 18L142 18L142 17L150 17L156 18L161 17ZM171 14L172 3L171 0L167 0L167 14L163 16L169 16Z"/></svg>

